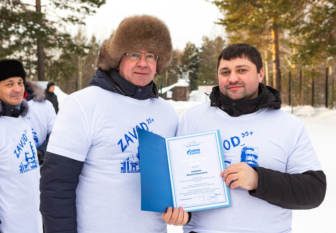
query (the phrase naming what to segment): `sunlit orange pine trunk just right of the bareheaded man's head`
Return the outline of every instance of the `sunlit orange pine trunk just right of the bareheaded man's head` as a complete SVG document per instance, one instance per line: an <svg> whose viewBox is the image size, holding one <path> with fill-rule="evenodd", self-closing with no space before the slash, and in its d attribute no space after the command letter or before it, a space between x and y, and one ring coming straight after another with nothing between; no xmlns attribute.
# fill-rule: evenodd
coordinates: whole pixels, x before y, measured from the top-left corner
<svg viewBox="0 0 336 233"><path fill-rule="evenodd" d="M281 93L281 75L279 60L279 34L276 22L272 25L273 87Z"/></svg>

